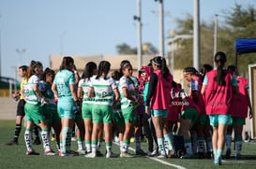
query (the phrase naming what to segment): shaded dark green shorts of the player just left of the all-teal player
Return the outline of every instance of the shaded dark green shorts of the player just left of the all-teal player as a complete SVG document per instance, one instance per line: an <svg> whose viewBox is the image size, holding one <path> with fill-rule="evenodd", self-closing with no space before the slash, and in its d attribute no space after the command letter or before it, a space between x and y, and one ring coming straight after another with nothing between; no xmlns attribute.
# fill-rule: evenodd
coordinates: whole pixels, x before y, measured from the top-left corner
<svg viewBox="0 0 256 169"><path fill-rule="evenodd" d="M49 125L60 122L60 118L57 112L57 106L55 105L46 105L42 107L42 112L45 116L45 119Z"/></svg>

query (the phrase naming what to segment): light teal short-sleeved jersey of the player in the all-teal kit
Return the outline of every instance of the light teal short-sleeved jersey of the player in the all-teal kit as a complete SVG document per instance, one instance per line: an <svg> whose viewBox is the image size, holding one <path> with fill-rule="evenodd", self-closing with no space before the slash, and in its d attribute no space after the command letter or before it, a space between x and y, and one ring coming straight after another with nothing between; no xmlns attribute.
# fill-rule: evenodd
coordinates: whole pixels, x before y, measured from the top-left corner
<svg viewBox="0 0 256 169"><path fill-rule="evenodd" d="M58 97L72 96L69 84L76 83L75 74L67 69L59 71L54 77L54 81L58 91Z"/></svg>

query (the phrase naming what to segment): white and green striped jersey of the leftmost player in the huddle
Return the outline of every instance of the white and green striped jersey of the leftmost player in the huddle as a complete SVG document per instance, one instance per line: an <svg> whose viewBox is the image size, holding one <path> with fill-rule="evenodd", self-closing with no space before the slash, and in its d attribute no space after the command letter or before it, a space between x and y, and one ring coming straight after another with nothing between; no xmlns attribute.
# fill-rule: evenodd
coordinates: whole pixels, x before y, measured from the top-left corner
<svg viewBox="0 0 256 169"><path fill-rule="evenodd" d="M41 98L34 91L34 84L38 84L39 87L40 78L36 75L31 76L26 83L23 85L24 96L26 102L29 104L38 105Z"/></svg>

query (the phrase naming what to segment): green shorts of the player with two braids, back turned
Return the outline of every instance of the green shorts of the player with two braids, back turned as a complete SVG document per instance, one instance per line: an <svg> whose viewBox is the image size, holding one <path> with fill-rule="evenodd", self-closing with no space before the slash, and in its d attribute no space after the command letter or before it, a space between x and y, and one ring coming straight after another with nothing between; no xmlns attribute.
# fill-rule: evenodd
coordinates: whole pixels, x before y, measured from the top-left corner
<svg viewBox="0 0 256 169"><path fill-rule="evenodd" d="M94 105L93 123L112 123L113 106Z"/></svg>

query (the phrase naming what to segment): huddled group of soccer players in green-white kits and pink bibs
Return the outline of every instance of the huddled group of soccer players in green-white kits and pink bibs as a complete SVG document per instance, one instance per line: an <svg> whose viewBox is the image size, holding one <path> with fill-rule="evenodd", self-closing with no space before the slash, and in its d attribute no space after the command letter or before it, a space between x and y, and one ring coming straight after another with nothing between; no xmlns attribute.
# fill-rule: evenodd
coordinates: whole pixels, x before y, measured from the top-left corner
<svg viewBox="0 0 256 169"><path fill-rule="evenodd" d="M194 67L184 68L181 76L189 83L184 90L173 80L161 56L143 65L138 77L132 76L128 60L122 61L120 70L112 75L108 61L98 65L88 62L82 76L70 56L63 57L56 73L50 68L43 71L42 63L32 61L27 70L22 70L20 91L26 116L26 154L39 154L32 144L37 124L45 155L96 158L103 156L100 144L105 142L106 158L213 158L215 164L221 164L225 143L225 156L231 156L234 130L235 158L239 160L248 108L249 118L253 114L248 79L239 77L233 65L224 68L224 52L216 53L215 63L215 69L203 64L200 72ZM71 150L74 125L76 151ZM50 144L51 129L58 153ZM18 144L17 137L19 134L8 145ZM118 138L118 155L112 150L114 137ZM131 139L135 154L128 152ZM141 148L142 139L147 140L148 152Z"/></svg>

